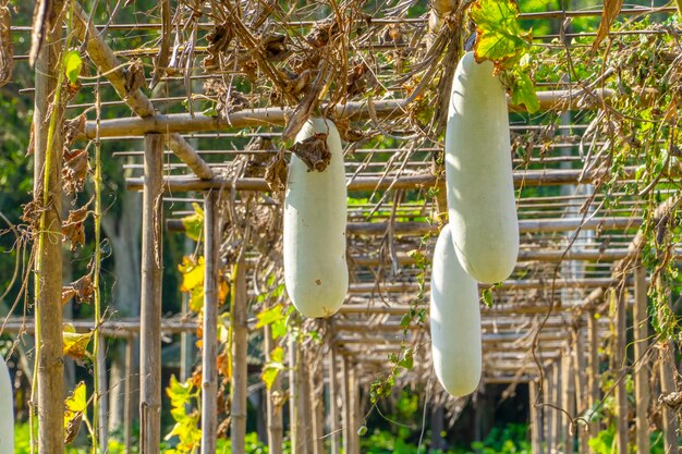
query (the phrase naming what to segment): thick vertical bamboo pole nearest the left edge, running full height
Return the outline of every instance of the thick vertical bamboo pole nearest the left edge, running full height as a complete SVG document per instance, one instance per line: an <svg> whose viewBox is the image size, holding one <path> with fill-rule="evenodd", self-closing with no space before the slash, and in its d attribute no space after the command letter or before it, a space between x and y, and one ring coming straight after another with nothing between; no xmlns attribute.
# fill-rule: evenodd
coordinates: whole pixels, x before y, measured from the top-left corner
<svg viewBox="0 0 682 454"><path fill-rule="evenodd" d="M51 11L61 11L63 1L51 3ZM63 102L52 103L61 71L61 29L54 27L53 17L46 17L45 41L38 52L34 127L34 201L41 212L41 232L34 244L36 254L35 322L37 328L37 389L32 391L32 415L38 412L38 452L64 452L64 357L62 353L62 123ZM53 29L57 28L57 29ZM50 121L50 115L53 119ZM52 126L53 134L49 133ZM46 171L47 170L47 171ZM46 181L47 179L47 181ZM46 197L47 195L47 197ZM40 212L41 210L39 210ZM38 228L36 225L36 228ZM35 378L35 376L34 376ZM37 401L35 392L37 391Z"/></svg>

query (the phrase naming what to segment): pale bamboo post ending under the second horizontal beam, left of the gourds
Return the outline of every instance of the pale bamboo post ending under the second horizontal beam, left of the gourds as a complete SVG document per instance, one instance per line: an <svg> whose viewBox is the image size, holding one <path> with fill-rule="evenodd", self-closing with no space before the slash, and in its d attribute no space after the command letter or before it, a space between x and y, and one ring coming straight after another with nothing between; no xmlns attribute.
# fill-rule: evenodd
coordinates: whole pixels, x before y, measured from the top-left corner
<svg viewBox="0 0 682 454"><path fill-rule="evenodd" d="M218 193L204 194L204 321L202 346L202 454L215 454L218 427Z"/></svg>

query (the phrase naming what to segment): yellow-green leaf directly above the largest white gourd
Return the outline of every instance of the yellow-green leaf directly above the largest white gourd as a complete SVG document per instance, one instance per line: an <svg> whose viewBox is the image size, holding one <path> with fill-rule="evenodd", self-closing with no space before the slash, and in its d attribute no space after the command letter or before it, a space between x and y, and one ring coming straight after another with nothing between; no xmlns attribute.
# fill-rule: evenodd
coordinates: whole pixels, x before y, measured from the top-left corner
<svg viewBox="0 0 682 454"><path fill-rule="evenodd" d="M514 65L531 47L531 32L519 25L519 7L513 0L476 0L471 7L476 23L474 57L489 60L496 69Z"/></svg>

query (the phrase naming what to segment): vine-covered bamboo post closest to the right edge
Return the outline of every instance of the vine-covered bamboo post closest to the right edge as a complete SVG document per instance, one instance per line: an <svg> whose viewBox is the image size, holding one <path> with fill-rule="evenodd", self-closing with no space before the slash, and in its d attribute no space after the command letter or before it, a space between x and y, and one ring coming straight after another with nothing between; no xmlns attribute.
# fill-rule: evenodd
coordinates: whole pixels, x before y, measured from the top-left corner
<svg viewBox="0 0 682 454"><path fill-rule="evenodd" d="M662 292L662 282L660 279L656 282L656 286L659 292ZM668 293L668 291L666 291ZM670 295L668 294L665 302L661 304L669 304ZM658 309L658 318L662 319L662 309ZM667 395L678 391L675 383L675 376L678 373L674 363L673 344L668 339L662 339L658 342L659 354L659 371L660 371L660 391L661 394ZM663 447L666 454L677 454L680 449L679 434L680 421L678 415L673 408L670 408L661 402L662 415L663 415Z"/></svg>

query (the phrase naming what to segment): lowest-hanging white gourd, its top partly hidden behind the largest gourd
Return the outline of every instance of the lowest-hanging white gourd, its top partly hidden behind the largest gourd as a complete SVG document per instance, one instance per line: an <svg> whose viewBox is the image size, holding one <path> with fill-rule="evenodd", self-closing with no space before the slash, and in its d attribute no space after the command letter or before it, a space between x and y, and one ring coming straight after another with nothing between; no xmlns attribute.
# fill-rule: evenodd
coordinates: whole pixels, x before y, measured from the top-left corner
<svg viewBox="0 0 682 454"><path fill-rule="evenodd" d="M482 369L478 284L460 266L450 224L440 232L434 253L430 324L440 384L454 396L473 393Z"/></svg>

